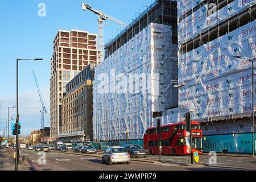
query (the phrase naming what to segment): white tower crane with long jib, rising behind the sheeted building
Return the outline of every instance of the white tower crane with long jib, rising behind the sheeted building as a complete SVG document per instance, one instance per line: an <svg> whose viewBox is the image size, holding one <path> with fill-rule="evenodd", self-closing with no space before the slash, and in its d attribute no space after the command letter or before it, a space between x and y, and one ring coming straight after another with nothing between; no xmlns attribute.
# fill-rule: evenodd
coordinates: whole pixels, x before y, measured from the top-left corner
<svg viewBox="0 0 256 182"><path fill-rule="evenodd" d="M104 32L103 32L103 22L107 19L112 20L112 22L117 23L123 27L128 27L126 23L123 23L121 20L114 18L108 14L103 13L100 10L94 10L91 6L82 3L82 10L90 10L96 15L98 15L98 47L101 51L101 61L104 59Z"/></svg>

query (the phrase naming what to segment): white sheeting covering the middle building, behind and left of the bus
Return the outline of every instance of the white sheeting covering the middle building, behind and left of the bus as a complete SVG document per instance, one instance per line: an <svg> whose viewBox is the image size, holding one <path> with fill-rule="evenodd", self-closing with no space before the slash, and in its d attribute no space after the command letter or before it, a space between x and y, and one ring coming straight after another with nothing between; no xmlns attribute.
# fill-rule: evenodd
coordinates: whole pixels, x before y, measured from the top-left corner
<svg viewBox="0 0 256 182"><path fill-rule="evenodd" d="M152 113L177 106L177 45L171 26L151 23L95 69L93 137L142 139Z"/></svg>

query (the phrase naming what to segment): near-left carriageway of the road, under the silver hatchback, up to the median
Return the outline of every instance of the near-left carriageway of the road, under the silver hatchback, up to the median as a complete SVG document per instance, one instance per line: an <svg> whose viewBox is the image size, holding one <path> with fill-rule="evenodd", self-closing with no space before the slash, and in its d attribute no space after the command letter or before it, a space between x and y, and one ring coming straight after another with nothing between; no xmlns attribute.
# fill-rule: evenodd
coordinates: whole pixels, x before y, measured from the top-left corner
<svg viewBox="0 0 256 182"><path fill-rule="evenodd" d="M25 155L29 163L37 170L53 171L172 171L188 170L176 165L166 167L166 164L155 164L145 162L131 162L130 164L113 164L108 166L102 164L101 158L66 154L65 152L51 151L46 153L46 164L38 163L38 152L22 150L20 155Z"/></svg>

